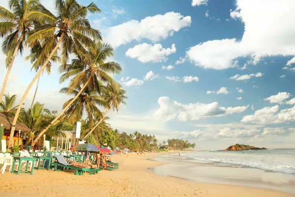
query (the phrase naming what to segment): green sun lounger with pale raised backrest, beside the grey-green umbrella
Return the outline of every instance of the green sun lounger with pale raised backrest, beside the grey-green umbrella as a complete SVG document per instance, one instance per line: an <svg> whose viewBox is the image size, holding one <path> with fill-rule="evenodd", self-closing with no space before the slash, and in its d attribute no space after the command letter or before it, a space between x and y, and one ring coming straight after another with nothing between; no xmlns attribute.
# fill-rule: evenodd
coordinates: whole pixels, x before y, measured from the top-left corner
<svg viewBox="0 0 295 197"><path fill-rule="evenodd" d="M89 171L90 174L95 174L97 173L98 171L100 171L101 169L99 168L83 168L83 167L79 167L79 166L74 166L74 165L71 165L71 164L68 164L63 155L56 155L56 158L58 160L58 162L54 162L54 163L51 163L54 165L54 171L57 171L57 167L59 166L62 170L63 168L69 168L69 169L74 169L75 170L75 175L81 175L81 174L84 174L84 172L86 171Z"/></svg>

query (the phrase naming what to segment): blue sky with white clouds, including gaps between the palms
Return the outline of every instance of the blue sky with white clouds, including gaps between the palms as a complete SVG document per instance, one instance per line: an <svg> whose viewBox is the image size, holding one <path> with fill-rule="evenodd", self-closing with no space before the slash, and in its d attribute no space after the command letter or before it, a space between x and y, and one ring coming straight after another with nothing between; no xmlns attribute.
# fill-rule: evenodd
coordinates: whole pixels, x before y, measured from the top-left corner
<svg viewBox="0 0 295 197"><path fill-rule="evenodd" d="M295 2L283 1L94 0L102 13L89 20L114 46L112 61L123 68L114 77L128 96L110 113L112 127L189 139L199 150L294 147ZM19 97L34 75L28 53L8 81L7 92ZM37 94L51 110L68 99L58 93L67 84L59 84L57 68L42 76Z"/></svg>

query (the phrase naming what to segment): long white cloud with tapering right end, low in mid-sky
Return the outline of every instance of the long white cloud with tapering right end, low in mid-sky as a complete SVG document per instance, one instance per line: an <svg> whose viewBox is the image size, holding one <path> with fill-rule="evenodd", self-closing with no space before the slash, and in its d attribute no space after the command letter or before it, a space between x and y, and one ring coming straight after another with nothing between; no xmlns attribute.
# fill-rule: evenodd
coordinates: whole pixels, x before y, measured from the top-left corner
<svg viewBox="0 0 295 197"><path fill-rule="evenodd" d="M177 119L179 121L201 120L207 117L224 116L233 113L241 113L248 106L241 107L221 107L218 102L212 103L189 103L181 104L172 101L169 97L160 97L158 99L160 108L158 108L154 116L162 117L166 121Z"/></svg>

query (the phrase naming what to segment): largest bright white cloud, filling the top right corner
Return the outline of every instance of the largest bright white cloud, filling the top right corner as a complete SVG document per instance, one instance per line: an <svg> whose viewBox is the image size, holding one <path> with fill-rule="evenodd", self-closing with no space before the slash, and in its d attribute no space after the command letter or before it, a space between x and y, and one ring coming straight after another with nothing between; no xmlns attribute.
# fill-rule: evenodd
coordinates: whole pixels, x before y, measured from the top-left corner
<svg viewBox="0 0 295 197"><path fill-rule="evenodd" d="M280 2L236 0L237 8L231 11L231 18L244 24L241 40L209 40L191 47L186 52L187 58L196 66L225 69L236 67L236 59L240 57L250 58L248 63L255 65L266 56L294 56L295 2Z"/></svg>

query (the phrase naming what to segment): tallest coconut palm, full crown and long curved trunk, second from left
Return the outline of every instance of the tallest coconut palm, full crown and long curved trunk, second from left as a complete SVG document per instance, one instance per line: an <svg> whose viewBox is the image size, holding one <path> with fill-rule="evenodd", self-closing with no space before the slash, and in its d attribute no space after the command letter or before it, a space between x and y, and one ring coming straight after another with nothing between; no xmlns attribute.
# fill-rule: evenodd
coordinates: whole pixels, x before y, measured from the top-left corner
<svg viewBox="0 0 295 197"><path fill-rule="evenodd" d="M42 44L41 53L49 55L30 82L19 103L11 126L8 148L12 147L15 124L29 90L44 70L45 66L48 65L59 46L61 46L61 63L65 66L69 60L70 53L78 54L80 57L81 54L86 53L84 47L95 46L91 38L101 40L100 32L92 29L86 18L88 12L100 12L95 3L92 2L88 6L84 6L78 4L76 0L56 0L55 4L57 16L43 6L41 6L41 10L32 11L27 16L28 19L38 24L45 25L31 31L26 43L28 43L30 47L33 47L36 43L40 42Z"/></svg>

